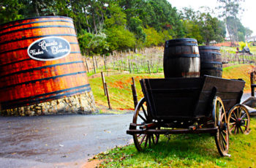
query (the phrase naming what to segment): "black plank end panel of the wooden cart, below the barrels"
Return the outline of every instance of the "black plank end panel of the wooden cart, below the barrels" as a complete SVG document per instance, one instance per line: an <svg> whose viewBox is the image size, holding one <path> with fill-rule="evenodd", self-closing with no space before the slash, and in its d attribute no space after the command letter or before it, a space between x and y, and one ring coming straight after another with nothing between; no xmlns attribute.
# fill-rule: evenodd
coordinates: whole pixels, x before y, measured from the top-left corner
<svg viewBox="0 0 256 168"><path fill-rule="evenodd" d="M194 118L203 80L204 77L140 80L152 118Z"/></svg>

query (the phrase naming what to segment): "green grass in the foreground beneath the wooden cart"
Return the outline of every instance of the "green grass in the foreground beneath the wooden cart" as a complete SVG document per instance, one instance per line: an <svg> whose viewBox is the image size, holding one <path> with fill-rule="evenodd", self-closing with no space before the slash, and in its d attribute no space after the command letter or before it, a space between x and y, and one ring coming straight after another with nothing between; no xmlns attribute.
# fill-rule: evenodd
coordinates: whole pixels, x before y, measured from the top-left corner
<svg viewBox="0 0 256 168"><path fill-rule="evenodd" d="M157 145L143 152L128 145L94 159L105 159L99 167L256 167L256 118L251 118L251 129L248 135L230 136L230 158L219 156L209 134L177 134L170 140L161 136Z"/></svg>

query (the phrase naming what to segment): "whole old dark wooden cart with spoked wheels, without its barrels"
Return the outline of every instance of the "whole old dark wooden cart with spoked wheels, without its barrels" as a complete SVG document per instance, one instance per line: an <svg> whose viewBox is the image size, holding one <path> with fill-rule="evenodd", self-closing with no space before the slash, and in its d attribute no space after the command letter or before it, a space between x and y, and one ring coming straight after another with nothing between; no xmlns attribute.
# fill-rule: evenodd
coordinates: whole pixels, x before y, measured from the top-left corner
<svg viewBox="0 0 256 168"><path fill-rule="evenodd" d="M160 134L211 133L219 154L230 156L229 133L249 133L249 113L239 104L244 84L212 76L140 80L144 97L127 134L140 151Z"/></svg>

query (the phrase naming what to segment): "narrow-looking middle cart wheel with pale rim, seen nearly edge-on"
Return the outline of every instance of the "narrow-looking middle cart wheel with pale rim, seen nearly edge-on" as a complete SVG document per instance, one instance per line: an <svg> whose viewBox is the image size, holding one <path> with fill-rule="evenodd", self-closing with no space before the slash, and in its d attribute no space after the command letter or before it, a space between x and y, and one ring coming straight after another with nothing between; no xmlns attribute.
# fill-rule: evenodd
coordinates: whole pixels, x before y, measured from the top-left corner
<svg viewBox="0 0 256 168"><path fill-rule="evenodd" d="M212 111L212 115L214 119L214 126L218 127L218 131L214 135L217 149L221 156L230 156L228 154L229 136L228 136L227 116L226 116L222 99L220 99L219 96L216 96L214 98L213 107L214 108Z"/></svg>

